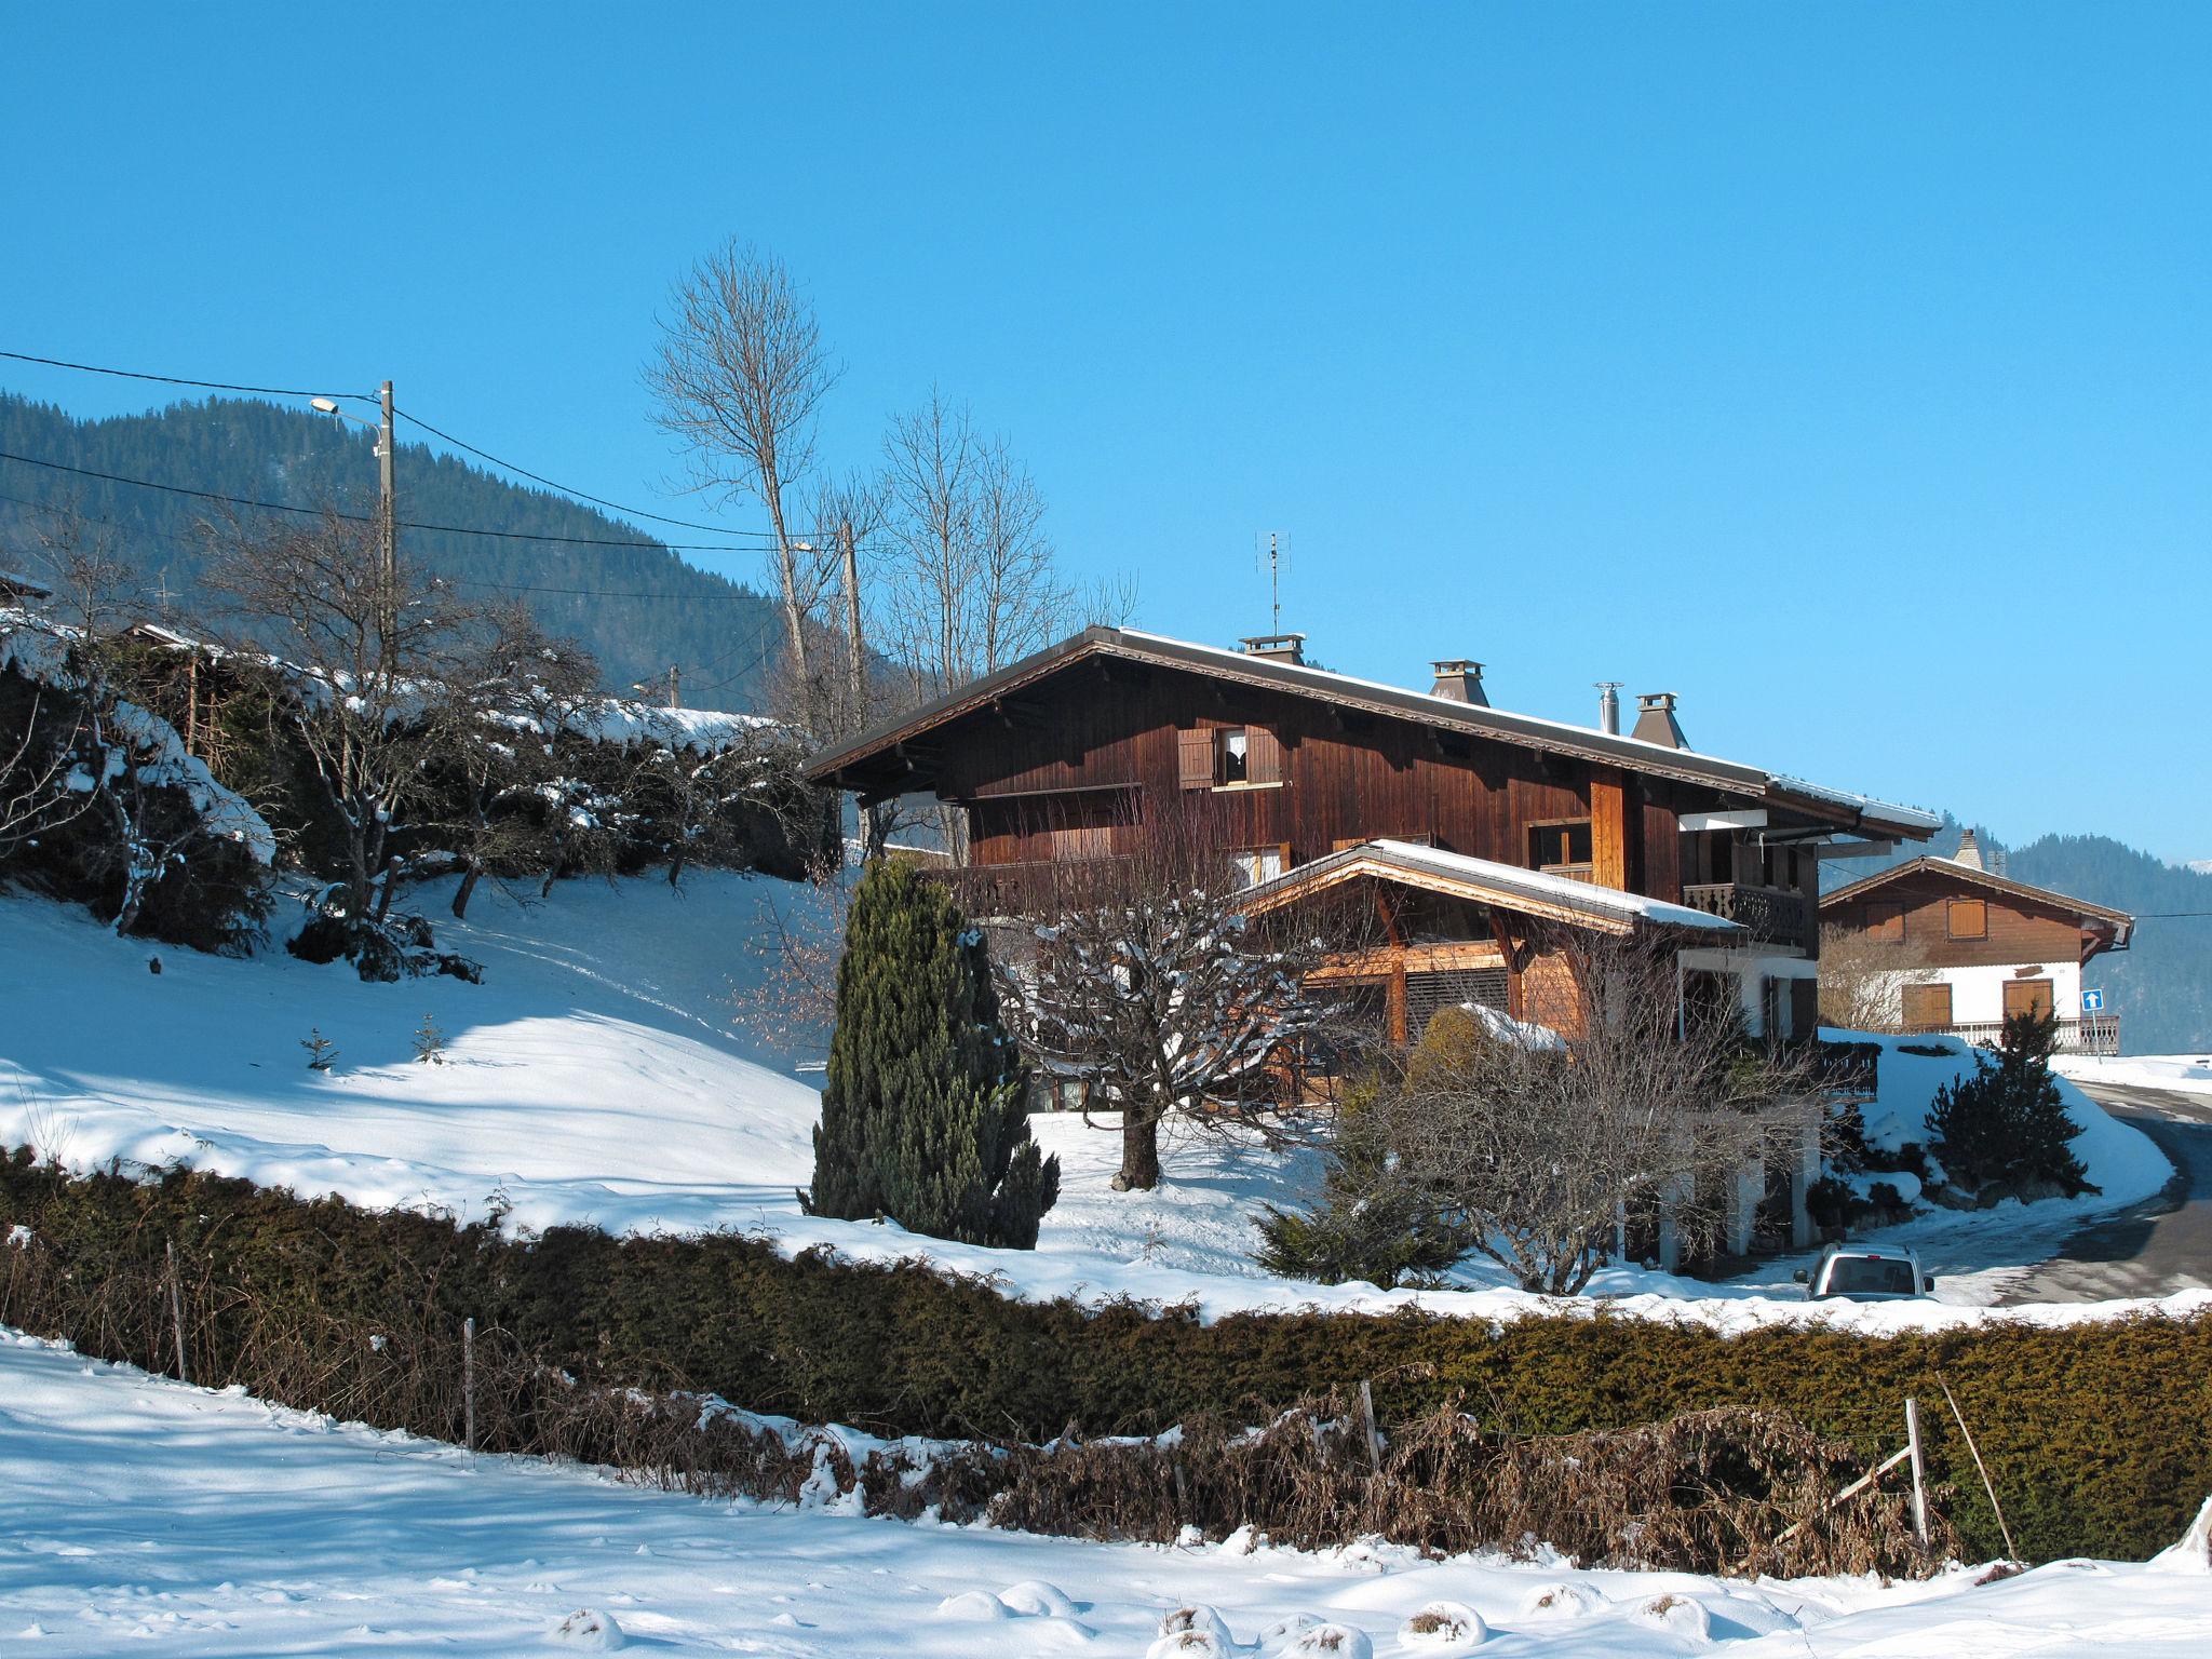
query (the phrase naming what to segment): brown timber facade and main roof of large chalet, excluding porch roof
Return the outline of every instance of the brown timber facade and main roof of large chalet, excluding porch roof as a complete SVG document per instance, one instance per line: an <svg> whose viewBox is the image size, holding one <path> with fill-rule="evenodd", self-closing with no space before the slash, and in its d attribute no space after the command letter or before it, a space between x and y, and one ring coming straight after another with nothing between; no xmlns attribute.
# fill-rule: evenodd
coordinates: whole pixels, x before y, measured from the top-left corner
<svg viewBox="0 0 2212 1659"><path fill-rule="evenodd" d="M1936 825L1617 732L1115 628L816 757L810 776L863 799L962 805L958 880L978 914L1020 911L1024 872L1126 856L1175 816L1254 883L1365 843L1416 843L1688 905L1734 922L1703 929L1708 942L1798 958L1818 951L1820 841ZM1491 984L1502 971L1500 1006L1515 1015L1533 1013L1537 987L1546 1002L1566 993L1551 967L1517 958L1498 902L1458 902L1464 914L1389 942L1394 1031L1409 1022L1409 973Z"/></svg>

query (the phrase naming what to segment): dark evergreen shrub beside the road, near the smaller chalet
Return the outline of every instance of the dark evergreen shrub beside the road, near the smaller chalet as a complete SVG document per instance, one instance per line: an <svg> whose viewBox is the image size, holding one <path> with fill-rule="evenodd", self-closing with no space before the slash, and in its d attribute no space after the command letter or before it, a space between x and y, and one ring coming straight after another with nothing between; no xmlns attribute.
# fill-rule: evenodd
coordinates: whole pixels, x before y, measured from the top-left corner
<svg viewBox="0 0 2212 1659"><path fill-rule="evenodd" d="M1936 1091L1936 1157L1955 1186L1984 1203L2097 1190L2068 1148L2081 1130L2066 1117L2051 1075L2055 1046L2053 1015L2017 1013L2004 1022L1995 1060L1975 1051L1973 1075Z"/></svg>

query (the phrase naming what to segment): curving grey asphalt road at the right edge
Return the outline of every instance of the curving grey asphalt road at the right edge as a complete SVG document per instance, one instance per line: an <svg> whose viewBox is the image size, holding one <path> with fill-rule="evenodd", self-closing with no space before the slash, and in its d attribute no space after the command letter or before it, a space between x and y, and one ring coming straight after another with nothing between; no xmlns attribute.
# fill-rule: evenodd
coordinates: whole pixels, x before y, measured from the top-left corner
<svg viewBox="0 0 2212 1659"><path fill-rule="evenodd" d="M2077 1079L2079 1082L2079 1079ZM2070 1234L2004 1303L2090 1303L2212 1290L2212 1095L2081 1084L2174 1164L2166 1190Z"/></svg>

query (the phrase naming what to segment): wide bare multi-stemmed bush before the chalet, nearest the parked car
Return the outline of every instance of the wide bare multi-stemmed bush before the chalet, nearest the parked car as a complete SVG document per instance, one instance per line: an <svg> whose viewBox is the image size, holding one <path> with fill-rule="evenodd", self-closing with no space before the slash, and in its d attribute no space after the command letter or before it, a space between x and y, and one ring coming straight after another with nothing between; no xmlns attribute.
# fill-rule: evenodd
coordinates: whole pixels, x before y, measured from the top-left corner
<svg viewBox="0 0 2212 1659"><path fill-rule="evenodd" d="M1683 1245L1721 1232L1723 1188L1818 1121L1803 1064L1743 1037L1732 1009L1679 1006L1670 953L1551 929L1579 987L1582 1031L1489 1022L1416 1051L1358 1126L1387 1148L1398 1197L1449 1221L1524 1290L1573 1296L1621 1217L1663 1203Z"/></svg>

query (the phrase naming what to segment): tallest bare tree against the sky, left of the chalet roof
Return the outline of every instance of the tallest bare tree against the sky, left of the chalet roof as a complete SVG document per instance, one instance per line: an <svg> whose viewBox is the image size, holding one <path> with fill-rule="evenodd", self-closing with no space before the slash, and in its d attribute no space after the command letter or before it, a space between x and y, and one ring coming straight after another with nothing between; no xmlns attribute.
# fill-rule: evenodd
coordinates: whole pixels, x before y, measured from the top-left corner
<svg viewBox="0 0 2212 1659"><path fill-rule="evenodd" d="M803 699L792 717L816 730L807 661L807 577L785 491L814 451L814 411L838 372L814 307L781 259L737 239L677 281L661 345L646 367L655 420L690 453L695 484L750 493L768 509L783 595L785 653Z"/></svg>

